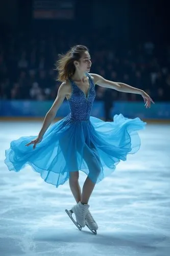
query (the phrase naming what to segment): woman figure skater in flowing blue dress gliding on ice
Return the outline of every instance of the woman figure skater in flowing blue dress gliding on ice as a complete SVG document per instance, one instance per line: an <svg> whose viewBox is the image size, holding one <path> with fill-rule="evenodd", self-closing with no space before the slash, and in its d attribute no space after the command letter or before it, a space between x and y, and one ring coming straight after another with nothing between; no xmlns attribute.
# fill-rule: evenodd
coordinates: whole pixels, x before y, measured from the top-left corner
<svg viewBox="0 0 170 256"><path fill-rule="evenodd" d="M109 81L90 74L91 58L87 47L77 45L57 61L61 85L57 97L46 113L38 136L21 137L6 150L5 163L9 170L19 172L29 164L45 182L58 187L69 179L77 204L71 208L79 227L87 225L96 231L98 224L89 211L89 198L96 183L109 176L120 160L134 154L140 147L137 133L145 127L138 117L129 119L122 114L105 122L90 116L95 98L95 84L119 92L140 94L144 106L154 101L144 91L128 84ZM70 113L50 126L60 105L67 99ZM49 127L49 129L48 129ZM33 144L33 147L30 146ZM82 193L79 170L86 173Z"/></svg>

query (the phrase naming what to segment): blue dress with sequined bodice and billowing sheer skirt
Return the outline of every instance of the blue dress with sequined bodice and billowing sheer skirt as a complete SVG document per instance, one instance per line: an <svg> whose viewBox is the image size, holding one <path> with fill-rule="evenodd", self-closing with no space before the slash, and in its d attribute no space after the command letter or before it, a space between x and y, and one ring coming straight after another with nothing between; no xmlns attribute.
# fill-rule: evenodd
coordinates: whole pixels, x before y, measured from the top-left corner
<svg viewBox="0 0 170 256"><path fill-rule="evenodd" d="M89 90L85 93L70 79L72 94L68 99L70 113L51 125L36 145L25 146L37 136L13 140L6 150L5 163L9 170L19 172L29 164L45 182L58 187L70 172L82 170L95 183L109 176L120 160L139 150L137 133L145 127L138 117L115 115L105 122L90 116L95 98L94 82L89 74Z"/></svg>

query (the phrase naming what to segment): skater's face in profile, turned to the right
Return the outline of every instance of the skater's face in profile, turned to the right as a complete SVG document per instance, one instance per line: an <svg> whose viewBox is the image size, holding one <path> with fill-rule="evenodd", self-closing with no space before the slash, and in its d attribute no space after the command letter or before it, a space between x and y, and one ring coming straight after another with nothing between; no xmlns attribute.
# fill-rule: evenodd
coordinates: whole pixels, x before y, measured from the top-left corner
<svg viewBox="0 0 170 256"><path fill-rule="evenodd" d="M82 72L90 72L91 68L91 57L88 51L85 51L79 59L78 65L76 66Z"/></svg>

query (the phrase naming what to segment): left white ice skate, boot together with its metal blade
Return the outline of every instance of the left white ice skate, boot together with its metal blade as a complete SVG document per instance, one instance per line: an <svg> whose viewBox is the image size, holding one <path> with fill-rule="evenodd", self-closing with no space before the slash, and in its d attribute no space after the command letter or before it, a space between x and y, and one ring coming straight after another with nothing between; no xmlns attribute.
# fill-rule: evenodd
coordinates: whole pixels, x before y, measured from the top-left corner
<svg viewBox="0 0 170 256"><path fill-rule="evenodd" d="M85 227L85 225L86 225L85 217L87 215L88 208L89 208L88 204L82 204L81 202L79 202L78 204L73 206L71 208L71 210L65 210L67 212L68 216L70 217L70 219L72 220L72 222L74 222L74 224L80 230L82 227ZM74 218L72 218L73 213L76 216L76 221L74 220Z"/></svg>

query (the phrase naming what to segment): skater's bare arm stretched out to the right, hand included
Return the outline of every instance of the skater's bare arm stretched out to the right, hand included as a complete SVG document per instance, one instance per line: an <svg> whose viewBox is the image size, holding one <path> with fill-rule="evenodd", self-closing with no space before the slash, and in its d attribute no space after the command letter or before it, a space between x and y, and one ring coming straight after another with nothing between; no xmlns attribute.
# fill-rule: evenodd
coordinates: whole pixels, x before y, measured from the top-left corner
<svg viewBox="0 0 170 256"><path fill-rule="evenodd" d="M144 99L146 108L151 107L151 102L154 103L151 97L147 93L145 93L143 90L129 86L126 83L113 82L113 81L107 80L98 74L90 74L90 75L93 77L94 83L98 84L99 86L111 88L119 92L140 94Z"/></svg>

